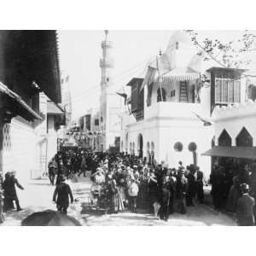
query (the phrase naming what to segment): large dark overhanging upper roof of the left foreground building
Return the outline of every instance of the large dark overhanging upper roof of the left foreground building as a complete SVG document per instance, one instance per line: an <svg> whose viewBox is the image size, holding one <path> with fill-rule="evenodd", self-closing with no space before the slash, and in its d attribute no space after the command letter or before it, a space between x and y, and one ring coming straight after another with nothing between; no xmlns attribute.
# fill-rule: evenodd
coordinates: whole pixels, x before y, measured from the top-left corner
<svg viewBox="0 0 256 256"><path fill-rule="evenodd" d="M55 30L0 31L0 38L4 38L0 40L2 80L6 81L9 72L15 73L15 87L11 88L15 92L30 93L35 82L51 101L60 103L61 73Z"/></svg>

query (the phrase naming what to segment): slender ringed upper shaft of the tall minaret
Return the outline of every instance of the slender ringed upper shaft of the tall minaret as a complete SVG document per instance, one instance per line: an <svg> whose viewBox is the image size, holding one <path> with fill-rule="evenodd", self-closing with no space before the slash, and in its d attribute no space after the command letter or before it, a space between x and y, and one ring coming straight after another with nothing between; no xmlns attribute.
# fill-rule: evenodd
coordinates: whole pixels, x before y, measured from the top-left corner
<svg viewBox="0 0 256 256"><path fill-rule="evenodd" d="M111 56L113 49L113 42L108 41L108 30L105 30L105 40L102 41L102 59L100 60L100 67L102 68L102 90L113 83L112 70L113 58Z"/></svg>

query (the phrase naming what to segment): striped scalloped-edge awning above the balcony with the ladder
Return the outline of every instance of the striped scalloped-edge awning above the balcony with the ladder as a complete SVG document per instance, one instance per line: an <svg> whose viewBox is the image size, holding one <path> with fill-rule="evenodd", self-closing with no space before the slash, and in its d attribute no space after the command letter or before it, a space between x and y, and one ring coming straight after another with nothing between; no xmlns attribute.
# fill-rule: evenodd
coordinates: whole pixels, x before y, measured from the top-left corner
<svg viewBox="0 0 256 256"><path fill-rule="evenodd" d="M188 81L200 78L200 73L190 67L176 67L172 71L161 75L163 82Z"/></svg>

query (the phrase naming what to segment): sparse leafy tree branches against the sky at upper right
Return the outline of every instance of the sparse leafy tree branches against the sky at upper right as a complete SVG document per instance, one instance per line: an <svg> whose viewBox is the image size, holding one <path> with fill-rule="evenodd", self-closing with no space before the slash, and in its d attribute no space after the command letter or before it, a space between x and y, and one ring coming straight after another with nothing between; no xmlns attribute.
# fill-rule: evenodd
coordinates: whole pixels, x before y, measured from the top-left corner
<svg viewBox="0 0 256 256"><path fill-rule="evenodd" d="M245 67L249 65L252 60L250 56L245 54L256 50L256 35L252 32L247 32L237 38L236 40L224 43L218 39L205 38L201 42L198 39L198 32L194 30L185 30L191 37L192 42L198 49L201 49L199 55L204 54L204 60L210 59L217 61L222 67Z"/></svg>

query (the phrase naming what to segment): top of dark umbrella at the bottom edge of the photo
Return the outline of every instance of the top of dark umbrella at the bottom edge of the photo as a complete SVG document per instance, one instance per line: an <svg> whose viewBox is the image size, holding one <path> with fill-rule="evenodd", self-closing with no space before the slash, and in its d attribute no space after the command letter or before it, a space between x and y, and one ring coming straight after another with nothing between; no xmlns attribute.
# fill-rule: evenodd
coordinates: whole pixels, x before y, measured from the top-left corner
<svg viewBox="0 0 256 256"><path fill-rule="evenodd" d="M79 221L62 212L34 212L22 220L21 226L81 226Z"/></svg>

